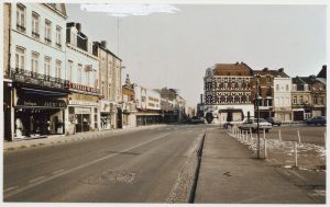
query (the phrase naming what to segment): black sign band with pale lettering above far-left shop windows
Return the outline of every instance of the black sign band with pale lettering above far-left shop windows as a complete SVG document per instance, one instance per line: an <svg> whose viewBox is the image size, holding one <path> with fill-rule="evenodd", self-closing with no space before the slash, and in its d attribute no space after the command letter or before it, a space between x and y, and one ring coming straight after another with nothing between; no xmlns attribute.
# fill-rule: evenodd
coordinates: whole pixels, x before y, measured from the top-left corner
<svg viewBox="0 0 330 207"><path fill-rule="evenodd" d="M66 103L63 100L28 100L19 99L16 106L21 107L50 107L50 108L66 108Z"/></svg>

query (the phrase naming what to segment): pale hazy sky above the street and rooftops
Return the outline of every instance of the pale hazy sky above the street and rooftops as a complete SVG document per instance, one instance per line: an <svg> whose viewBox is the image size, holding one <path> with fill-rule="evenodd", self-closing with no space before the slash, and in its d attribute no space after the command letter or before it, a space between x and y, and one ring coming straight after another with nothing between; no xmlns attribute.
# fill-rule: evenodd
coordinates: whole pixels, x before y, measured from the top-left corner
<svg viewBox="0 0 330 207"><path fill-rule="evenodd" d="M284 68L290 76L317 74L327 64L326 5L172 4L170 12L113 16L67 4L67 21L80 22L92 41L125 66L131 82L178 89L187 106L204 92L215 64L245 62L254 70ZM172 8L173 9L173 8Z"/></svg>

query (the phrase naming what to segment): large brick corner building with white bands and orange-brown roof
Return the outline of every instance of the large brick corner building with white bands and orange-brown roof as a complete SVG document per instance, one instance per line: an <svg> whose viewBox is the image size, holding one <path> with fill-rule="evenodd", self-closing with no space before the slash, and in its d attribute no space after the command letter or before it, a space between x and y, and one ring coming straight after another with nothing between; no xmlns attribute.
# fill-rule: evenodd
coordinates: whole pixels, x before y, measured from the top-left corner
<svg viewBox="0 0 330 207"><path fill-rule="evenodd" d="M209 123L224 124L253 116L252 76L252 69L244 62L217 64L206 70L204 110Z"/></svg>

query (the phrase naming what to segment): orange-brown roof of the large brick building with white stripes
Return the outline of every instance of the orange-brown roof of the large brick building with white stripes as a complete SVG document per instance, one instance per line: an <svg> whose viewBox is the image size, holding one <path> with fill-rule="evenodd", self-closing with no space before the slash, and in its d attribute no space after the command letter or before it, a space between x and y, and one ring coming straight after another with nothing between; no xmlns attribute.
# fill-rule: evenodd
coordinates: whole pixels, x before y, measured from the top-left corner
<svg viewBox="0 0 330 207"><path fill-rule="evenodd" d="M252 76L253 70L244 62L216 64L212 68L215 76Z"/></svg>

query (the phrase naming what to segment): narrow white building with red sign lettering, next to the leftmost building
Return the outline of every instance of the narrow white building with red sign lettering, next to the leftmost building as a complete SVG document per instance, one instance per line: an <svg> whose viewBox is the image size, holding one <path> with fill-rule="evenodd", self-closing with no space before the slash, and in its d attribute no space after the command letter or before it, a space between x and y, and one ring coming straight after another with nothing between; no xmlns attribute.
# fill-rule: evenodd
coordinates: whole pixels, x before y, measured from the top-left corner
<svg viewBox="0 0 330 207"><path fill-rule="evenodd" d="M99 59L92 54L92 41L79 23L67 23L66 71L69 81L66 134L98 130L99 116Z"/></svg>

